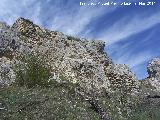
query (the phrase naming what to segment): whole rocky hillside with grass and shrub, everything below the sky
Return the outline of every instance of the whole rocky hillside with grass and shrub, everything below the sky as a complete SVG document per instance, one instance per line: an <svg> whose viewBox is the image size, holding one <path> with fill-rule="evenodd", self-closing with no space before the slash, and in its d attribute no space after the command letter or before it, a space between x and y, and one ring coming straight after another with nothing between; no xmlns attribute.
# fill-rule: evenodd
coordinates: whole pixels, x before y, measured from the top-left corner
<svg viewBox="0 0 160 120"><path fill-rule="evenodd" d="M50 31L24 18L12 26L0 23L0 118L158 120L160 59L139 81L127 65L113 63L104 47L103 41ZM141 109L146 113L137 114Z"/></svg>

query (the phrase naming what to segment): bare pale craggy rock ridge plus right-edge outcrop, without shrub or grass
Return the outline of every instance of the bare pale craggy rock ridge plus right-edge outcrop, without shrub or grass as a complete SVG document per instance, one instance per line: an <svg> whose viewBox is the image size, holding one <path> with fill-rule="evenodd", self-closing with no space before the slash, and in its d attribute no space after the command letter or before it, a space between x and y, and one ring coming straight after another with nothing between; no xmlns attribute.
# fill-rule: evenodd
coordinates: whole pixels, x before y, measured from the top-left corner
<svg viewBox="0 0 160 120"><path fill-rule="evenodd" d="M60 74L63 74L73 83L85 85L88 90L93 87L91 82L97 91L103 88L110 91L110 86L119 87L125 82L128 90L138 91L140 82L135 74L126 65L114 64L104 47L103 41L75 38L43 29L24 18L17 19L12 26L0 23L0 84L4 86L14 82L12 65L22 55L35 52L44 55L52 66L51 80L60 80ZM159 63L159 59L154 59L149 64L149 77L146 79L158 90Z"/></svg>

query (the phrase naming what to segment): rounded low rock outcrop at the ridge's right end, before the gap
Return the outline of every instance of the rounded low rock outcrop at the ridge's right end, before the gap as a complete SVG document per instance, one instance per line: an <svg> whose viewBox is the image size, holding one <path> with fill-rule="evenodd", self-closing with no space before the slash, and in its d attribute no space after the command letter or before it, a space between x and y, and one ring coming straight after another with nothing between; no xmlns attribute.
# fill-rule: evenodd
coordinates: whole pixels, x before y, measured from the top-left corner
<svg viewBox="0 0 160 120"><path fill-rule="evenodd" d="M125 64L113 64L107 67L106 76L112 87L122 89L126 87L126 92L138 92L139 82L136 75Z"/></svg>

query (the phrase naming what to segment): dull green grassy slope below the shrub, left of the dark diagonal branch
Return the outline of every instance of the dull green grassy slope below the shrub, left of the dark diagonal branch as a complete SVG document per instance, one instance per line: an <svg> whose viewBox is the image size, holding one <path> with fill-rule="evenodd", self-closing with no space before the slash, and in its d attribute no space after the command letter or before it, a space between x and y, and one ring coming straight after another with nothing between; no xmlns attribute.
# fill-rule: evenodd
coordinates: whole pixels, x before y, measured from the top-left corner
<svg viewBox="0 0 160 120"><path fill-rule="evenodd" d="M11 86L0 90L1 120L99 120L90 105L75 97L69 86Z"/></svg>

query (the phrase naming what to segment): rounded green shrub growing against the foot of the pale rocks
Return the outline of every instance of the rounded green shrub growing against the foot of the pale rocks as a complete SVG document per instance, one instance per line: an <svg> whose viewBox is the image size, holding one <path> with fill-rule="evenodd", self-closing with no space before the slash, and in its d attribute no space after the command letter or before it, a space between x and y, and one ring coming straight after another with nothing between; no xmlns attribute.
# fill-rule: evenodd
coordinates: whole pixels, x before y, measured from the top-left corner
<svg viewBox="0 0 160 120"><path fill-rule="evenodd" d="M29 54L21 59L21 63L16 64L16 83L20 86L46 87L51 84L51 67L46 64L43 56Z"/></svg>

